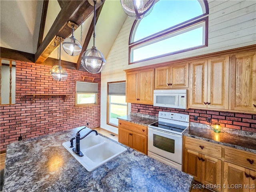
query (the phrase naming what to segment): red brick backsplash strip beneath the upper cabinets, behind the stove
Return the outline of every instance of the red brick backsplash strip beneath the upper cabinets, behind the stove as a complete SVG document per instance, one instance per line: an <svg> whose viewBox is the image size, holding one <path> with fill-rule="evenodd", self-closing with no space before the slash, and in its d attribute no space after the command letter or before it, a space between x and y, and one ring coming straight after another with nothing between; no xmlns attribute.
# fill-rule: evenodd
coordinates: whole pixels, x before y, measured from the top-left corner
<svg viewBox="0 0 256 192"><path fill-rule="evenodd" d="M138 112L138 110L140 112ZM212 123L220 123L221 126L232 129L256 132L256 114L243 114L234 112L221 112L198 109L173 109L166 107L156 107L144 104L132 104L131 112L158 116L159 111L175 112L190 115L190 122L209 124L207 118L212 118ZM198 120L194 120L198 116Z"/></svg>

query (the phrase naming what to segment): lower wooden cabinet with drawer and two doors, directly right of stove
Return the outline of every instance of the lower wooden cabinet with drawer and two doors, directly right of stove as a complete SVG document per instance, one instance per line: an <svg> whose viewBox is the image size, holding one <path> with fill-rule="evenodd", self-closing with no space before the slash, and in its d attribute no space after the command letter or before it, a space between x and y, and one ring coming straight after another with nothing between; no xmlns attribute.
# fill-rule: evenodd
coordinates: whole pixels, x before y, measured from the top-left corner
<svg viewBox="0 0 256 192"><path fill-rule="evenodd" d="M210 154L210 149L212 156ZM215 158L220 156L221 147L212 144L201 142L199 140L185 138L185 150L183 171L194 176L194 179L205 185L218 185L221 184L221 159ZM220 191L217 188L216 191Z"/></svg>

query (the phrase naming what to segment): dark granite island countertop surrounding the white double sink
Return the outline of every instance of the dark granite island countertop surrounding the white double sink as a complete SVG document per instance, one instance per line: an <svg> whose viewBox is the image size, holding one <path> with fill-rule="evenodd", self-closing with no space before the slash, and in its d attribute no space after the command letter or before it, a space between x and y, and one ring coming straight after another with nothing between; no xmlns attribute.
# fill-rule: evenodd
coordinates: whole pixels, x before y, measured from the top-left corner
<svg viewBox="0 0 256 192"><path fill-rule="evenodd" d="M63 142L70 140L80 129L9 144L4 191L190 191L192 176L127 146L126 152L88 172L62 146ZM83 135L82 131L80 133Z"/></svg>

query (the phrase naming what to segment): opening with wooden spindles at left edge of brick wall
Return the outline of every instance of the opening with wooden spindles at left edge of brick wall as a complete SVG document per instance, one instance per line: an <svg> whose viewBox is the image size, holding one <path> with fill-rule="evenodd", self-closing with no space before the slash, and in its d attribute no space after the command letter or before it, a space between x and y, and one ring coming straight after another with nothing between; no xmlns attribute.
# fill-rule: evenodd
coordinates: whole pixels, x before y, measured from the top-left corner
<svg viewBox="0 0 256 192"><path fill-rule="evenodd" d="M0 60L0 104L15 104L16 62Z"/></svg>

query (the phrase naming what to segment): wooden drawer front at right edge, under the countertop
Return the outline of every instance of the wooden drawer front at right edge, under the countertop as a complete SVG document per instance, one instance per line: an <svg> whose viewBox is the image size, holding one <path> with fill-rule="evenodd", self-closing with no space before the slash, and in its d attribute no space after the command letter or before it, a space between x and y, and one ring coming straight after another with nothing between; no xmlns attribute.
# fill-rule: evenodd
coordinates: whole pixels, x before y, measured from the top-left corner
<svg viewBox="0 0 256 192"><path fill-rule="evenodd" d="M242 150L233 150L225 148L224 150L225 161L244 166L251 170L256 170L256 154L245 152Z"/></svg>

